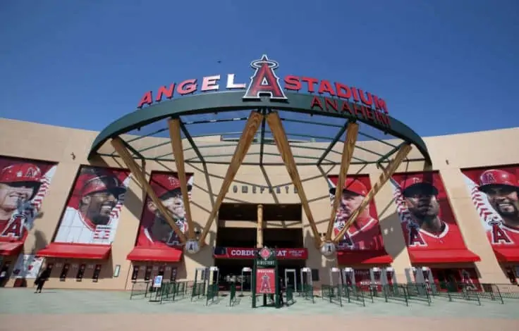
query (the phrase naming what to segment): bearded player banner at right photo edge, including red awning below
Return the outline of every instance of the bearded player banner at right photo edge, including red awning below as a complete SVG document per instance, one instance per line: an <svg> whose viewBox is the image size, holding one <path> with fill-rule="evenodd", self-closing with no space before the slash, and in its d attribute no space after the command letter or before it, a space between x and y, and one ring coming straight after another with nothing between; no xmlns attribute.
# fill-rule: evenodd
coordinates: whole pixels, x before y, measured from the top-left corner
<svg viewBox="0 0 519 331"><path fill-rule="evenodd" d="M519 165L462 173L496 257L519 262Z"/></svg>

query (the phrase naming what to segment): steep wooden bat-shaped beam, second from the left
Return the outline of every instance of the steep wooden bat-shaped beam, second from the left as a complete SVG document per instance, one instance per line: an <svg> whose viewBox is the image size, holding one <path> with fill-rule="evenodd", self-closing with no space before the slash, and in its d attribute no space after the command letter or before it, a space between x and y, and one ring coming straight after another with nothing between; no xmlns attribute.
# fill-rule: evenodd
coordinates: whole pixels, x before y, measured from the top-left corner
<svg viewBox="0 0 519 331"><path fill-rule="evenodd" d="M176 173L178 181L181 182L182 201L185 209L185 219L188 221L188 239L195 239L195 223L191 218L191 206L188 192L188 177L185 175L184 149L182 146L181 136L181 120L173 118L168 121L169 138L171 139L171 148L175 158Z"/></svg>

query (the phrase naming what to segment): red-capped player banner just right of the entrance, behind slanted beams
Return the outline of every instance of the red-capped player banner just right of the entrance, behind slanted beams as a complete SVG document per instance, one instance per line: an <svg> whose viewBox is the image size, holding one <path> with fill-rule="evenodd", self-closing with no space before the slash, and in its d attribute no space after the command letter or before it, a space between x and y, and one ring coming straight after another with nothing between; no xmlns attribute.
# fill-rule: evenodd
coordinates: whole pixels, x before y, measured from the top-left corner
<svg viewBox="0 0 519 331"><path fill-rule="evenodd" d="M330 201L333 205L336 186L337 176L328 177L329 182L329 193ZM364 183L365 182L365 183ZM346 177L346 181L342 186L341 203L337 207L337 213L334 224L334 234L338 232L346 225L348 218L355 209L357 209L362 200L367 195L367 186L370 185L369 177ZM355 222L350 226L344 238L338 244L338 249L343 250L379 250L384 249L384 242L382 240L382 234L379 227L379 220L372 215L377 215L374 204L370 204L369 208L365 208L362 213L358 216Z"/></svg>

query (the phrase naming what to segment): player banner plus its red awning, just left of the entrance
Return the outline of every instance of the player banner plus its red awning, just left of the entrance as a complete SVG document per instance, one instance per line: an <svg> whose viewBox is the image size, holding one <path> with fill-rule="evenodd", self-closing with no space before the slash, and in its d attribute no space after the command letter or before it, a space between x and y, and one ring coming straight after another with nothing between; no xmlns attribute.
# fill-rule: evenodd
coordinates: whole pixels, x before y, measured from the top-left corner
<svg viewBox="0 0 519 331"><path fill-rule="evenodd" d="M188 199L191 200L193 175L186 174L188 180ZM182 232L188 230L185 206L181 192L181 182L176 173L153 172L149 180L153 192L161 200L164 207L171 211L171 216ZM181 246L178 235L162 216L154 202L146 197L145 206L140 218L140 228L135 249L128 255L129 260L176 262L181 259ZM144 250L145 249L145 250Z"/></svg>

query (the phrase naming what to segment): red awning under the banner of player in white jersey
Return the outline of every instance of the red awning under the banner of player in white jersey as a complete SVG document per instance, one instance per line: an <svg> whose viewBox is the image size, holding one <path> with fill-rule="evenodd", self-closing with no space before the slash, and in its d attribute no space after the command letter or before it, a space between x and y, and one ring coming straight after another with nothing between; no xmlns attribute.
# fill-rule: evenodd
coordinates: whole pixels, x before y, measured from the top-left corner
<svg viewBox="0 0 519 331"><path fill-rule="evenodd" d="M110 256L110 251L110 245L51 242L47 247L38 251L37 256L106 260Z"/></svg>

